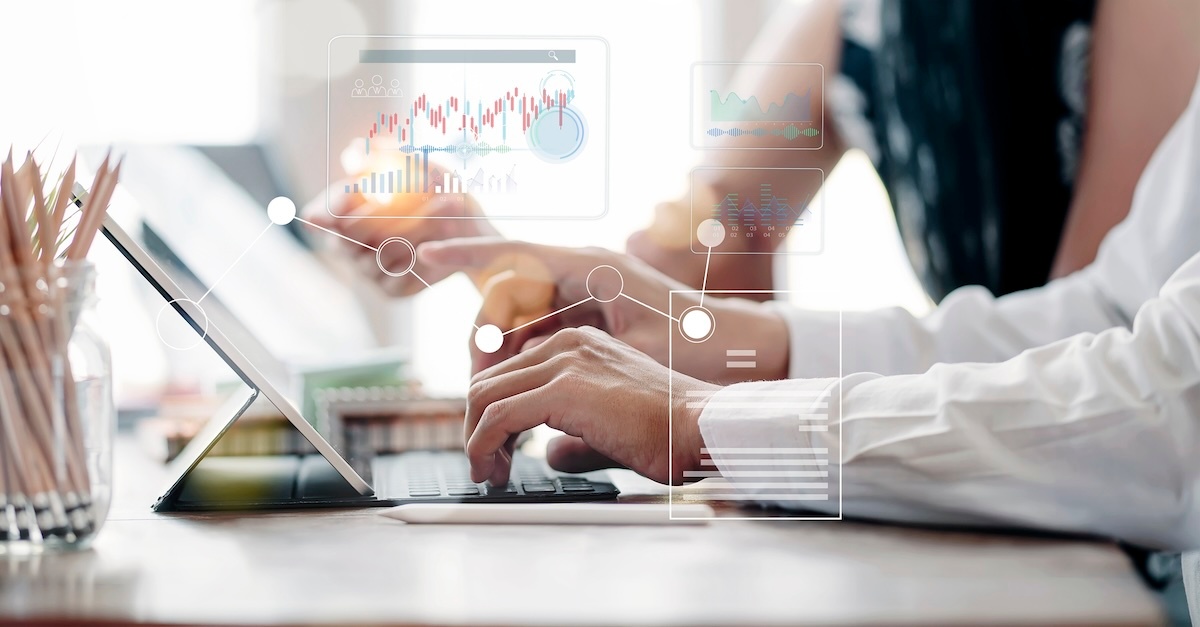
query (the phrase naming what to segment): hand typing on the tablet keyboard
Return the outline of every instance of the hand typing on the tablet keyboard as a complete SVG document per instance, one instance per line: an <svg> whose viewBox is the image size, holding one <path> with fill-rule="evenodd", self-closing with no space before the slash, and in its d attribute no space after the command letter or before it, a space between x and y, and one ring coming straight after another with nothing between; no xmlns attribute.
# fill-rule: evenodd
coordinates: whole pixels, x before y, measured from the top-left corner
<svg viewBox="0 0 1200 627"><path fill-rule="evenodd" d="M678 374L672 387L668 376L646 354L589 327L530 342L472 380L464 425L472 480L508 483L517 436L547 424L566 434L547 452L557 470L624 466L660 483L683 483L684 471L700 466L703 446L695 393L720 388Z"/></svg>

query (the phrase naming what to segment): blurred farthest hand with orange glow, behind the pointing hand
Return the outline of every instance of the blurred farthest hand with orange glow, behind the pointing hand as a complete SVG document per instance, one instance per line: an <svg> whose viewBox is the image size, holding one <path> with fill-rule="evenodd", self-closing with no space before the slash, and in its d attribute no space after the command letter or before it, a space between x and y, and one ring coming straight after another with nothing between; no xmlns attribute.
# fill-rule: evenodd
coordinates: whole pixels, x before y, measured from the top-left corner
<svg viewBox="0 0 1200 627"><path fill-rule="evenodd" d="M329 211L322 195L305 207L302 217L376 249L389 238L404 238L420 246L425 241L498 234L479 203L468 195L396 193L380 202L371 195L342 193L343 189L344 183L331 187L335 204ZM379 263L396 273L407 268L414 261L407 246L384 246L377 263L376 251L331 235L329 239L390 295L412 295L424 289L425 283L416 276L432 285L454 273L451 268L432 268L416 259L412 273L390 276L379 269ZM476 285L482 282L481 276L468 274Z"/></svg>

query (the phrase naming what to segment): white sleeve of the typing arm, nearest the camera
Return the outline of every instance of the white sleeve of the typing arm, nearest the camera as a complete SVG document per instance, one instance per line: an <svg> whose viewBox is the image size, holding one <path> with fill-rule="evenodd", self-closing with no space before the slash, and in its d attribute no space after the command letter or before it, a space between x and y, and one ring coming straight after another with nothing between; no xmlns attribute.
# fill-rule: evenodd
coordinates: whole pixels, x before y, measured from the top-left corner
<svg viewBox="0 0 1200 627"><path fill-rule="evenodd" d="M720 407L784 390L828 390L829 430L798 429L797 413L823 408ZM1142 307L1133 332L922 375L740 383L709 404L701 417L709 450L776 448L780 468L800 459L794 452L828 450L830 500L805 507L835 512L840 485L848 515L1200 548L1200 255ZM772 497L792 490L738 477L733 455L712 456L734 486L797 504Z"/></svg>

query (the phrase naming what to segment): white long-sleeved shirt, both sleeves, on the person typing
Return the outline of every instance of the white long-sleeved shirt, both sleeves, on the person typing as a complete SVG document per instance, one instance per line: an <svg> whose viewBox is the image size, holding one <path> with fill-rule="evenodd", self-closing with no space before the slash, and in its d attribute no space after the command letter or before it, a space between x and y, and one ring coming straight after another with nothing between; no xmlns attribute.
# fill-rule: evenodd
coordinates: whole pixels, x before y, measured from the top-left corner
<svg viewBox="0 0 1200 627"><path fill-rule="evenodd" d="M820 405L710 401L704 446L728 482L785 507L797 502L730 472L738 458L720 452L828 449L832 497L806 508L836 512L840 488L846 515L1200 548L1198 253L1200 82L1088 268L1002 298L965 287L924 318L847 312L842 378L836 350L821 348L835 346L838 315L774 305L794 378L713 400L828 392L828 431L797 429L797 410Z"/></svg>

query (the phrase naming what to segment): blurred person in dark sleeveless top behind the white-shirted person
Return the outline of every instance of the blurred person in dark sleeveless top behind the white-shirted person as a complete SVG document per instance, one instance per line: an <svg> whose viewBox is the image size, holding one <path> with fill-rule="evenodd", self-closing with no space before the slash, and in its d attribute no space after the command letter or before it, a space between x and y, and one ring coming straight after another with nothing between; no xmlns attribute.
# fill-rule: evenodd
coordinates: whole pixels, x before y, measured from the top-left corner
<svg viewBox="0 0 1200 627"><path fill-rule="evenodd" d="M829 172L863 149L935 301L967 285L1003 295L1087 265L1200 65L1171 2L844 0L782 12L748 59L824 65L824 147L709 161ZM743 77L743 92L779 102L799 82L788 72ZM712 193L744 187L738 175L710 180ZM688 211L688 199L659 205L629 251L700 286L704 256L679 239ZM714 256L708 287L769 289L769 257Z"/></svg>

